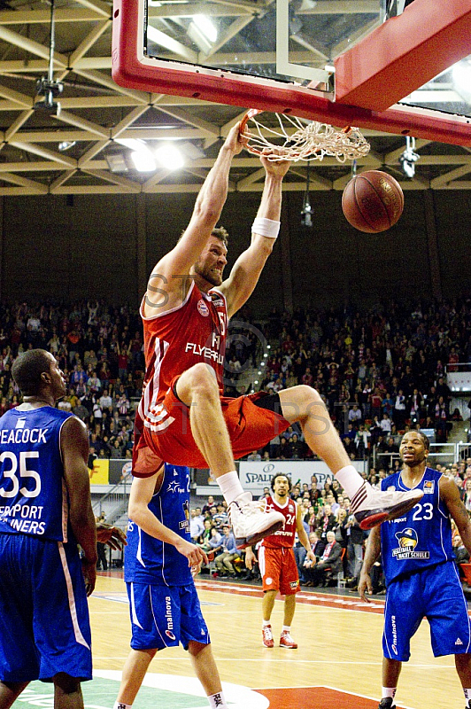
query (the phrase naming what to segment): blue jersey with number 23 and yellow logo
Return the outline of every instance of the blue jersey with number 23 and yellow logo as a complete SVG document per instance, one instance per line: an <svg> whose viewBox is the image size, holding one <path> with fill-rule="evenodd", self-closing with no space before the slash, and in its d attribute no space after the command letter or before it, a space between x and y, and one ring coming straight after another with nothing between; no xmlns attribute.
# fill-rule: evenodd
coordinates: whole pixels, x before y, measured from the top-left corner
<svg viewBox="0 0 471 709"><path fill-rule="evenodd" d="M417 489L423 490L420 503L404 517L382 523L382 567L387 584L404 574L420 572L455 558L450 515L440 500L441 477L441 472L426 468L417 485ZM382 480L382 490L391 489L409 489L400 471Z"/></svg>

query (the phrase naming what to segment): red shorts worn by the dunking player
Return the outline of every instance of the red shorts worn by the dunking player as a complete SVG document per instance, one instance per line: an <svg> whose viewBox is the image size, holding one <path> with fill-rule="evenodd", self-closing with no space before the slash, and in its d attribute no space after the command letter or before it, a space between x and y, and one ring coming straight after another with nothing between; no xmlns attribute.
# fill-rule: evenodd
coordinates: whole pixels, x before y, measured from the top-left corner
<svg viewBox="0 0 471 709"><path fill-rule="evenodd" d="M145 477L158 470L158 460L174 465L188 465L190 468L208 467L191 433L189 407L182 404L174 393L175 383L176 379L163 402L174 421L164 431L151 432L136 413L133 473L137 477ZM220 398L235 459L263 448L290 425L280 414L270 409L261 409L254 403L266 395L265 392L258 392L236 399L227 396Z"/></svg>

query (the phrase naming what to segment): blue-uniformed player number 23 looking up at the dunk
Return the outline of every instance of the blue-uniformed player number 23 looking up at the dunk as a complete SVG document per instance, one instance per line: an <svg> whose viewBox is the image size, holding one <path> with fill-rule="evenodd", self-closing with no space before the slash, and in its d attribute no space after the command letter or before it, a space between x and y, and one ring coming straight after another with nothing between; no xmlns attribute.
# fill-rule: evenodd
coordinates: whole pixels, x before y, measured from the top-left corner
<svg viewBox="0 0 471 709"><path fill-rule="evenodd" d="M394 709L402 663L410 657L411 637L424 616L429 620L434 655L455 656L468 707L471 627L454 561L451 518L470 554L471 521L455 482L427 466L427 436L419 431L405 433L399 452L402 470L382 480L382 489L420 489L423 497L403 517L372 530L359 579L359 594L368 600L365 594L372 590L369 572L381 552L387 591L380 709Z"/></svg>

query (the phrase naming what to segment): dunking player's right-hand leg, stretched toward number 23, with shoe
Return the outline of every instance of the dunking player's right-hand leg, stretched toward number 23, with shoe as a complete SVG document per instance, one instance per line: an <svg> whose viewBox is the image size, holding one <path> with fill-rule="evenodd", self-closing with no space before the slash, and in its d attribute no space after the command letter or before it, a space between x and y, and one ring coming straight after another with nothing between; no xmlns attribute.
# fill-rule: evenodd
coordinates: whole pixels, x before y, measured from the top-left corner
<svg viewBox="0 0 471 709"><path fill-rule="evenodd" d="M311 386L293 386L279 392L282 417L299 422L305 442L320 456L351 498L351 511L362 529L370 529L386 519L396 518L410 510L423 493L374 490L351 465L351 460L336 432L320 394Z"/></svg>

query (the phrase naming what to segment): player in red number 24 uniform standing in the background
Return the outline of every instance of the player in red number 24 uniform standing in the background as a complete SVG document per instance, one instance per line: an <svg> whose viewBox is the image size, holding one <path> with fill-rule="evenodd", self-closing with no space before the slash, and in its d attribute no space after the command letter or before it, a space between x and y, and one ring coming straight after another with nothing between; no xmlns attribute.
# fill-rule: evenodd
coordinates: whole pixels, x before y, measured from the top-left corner
<svg viewBox="0 0 471 709"><path fill-rule="evenodd" d="M305 547L306 557L315 562L313 549L303 526L301 508L290 498L291 481L282 472L272 478L273 495L266 498L266 506L270 510L282 513L285 523L282 529L266 536L259 546L259 567L263 580L263 627L262 641L266 648L274 647L274 639L270 619L274 608L274 599L278 591L284 596L284 619L280 647L296 649L290 634L291 622L294 618L296 594L299 590L299 574L297 573L294 556L295 534ZM254 559L251 547L245 551L245 565L251 569Z"/></svg>

